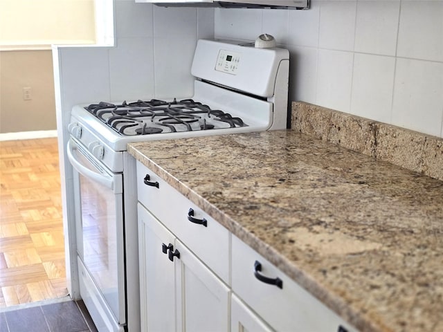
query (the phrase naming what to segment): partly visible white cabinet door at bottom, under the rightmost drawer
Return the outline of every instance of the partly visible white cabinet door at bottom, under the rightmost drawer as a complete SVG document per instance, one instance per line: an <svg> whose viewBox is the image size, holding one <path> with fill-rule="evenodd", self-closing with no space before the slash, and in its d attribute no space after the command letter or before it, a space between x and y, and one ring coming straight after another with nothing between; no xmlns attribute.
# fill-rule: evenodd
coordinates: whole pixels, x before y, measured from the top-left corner
<svg viewBox="0 0 443 332"><path fill-rule="evenodd" d="M237 296L230 301L230 332L272 332Z"/></svg>

